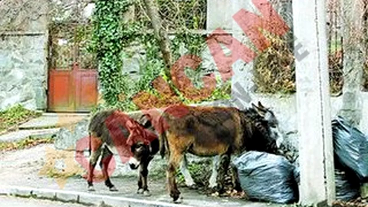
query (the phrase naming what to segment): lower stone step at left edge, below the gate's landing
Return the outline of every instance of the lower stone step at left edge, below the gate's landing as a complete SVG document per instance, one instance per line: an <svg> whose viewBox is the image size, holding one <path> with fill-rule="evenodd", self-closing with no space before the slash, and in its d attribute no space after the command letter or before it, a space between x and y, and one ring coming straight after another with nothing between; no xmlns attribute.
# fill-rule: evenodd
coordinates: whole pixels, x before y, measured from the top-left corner
<svg viewBox="0 0 368 207"><path fill-rule="evenodd" d="M37 138L46 138L56 135L60 128L52 129L33 129L33 130L19 130L10 132L0 136L0 142L17 142L22 139L26 139L29 136Z"/></svg>

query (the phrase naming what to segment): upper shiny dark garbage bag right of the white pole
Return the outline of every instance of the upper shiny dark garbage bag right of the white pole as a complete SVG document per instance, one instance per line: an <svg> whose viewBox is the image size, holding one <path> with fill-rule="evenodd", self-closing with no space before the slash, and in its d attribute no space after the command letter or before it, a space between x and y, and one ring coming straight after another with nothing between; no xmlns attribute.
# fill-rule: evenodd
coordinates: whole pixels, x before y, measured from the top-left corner
<svg viewBox="0 0 368 207"><path fill-rule="evenodd" d="M342 117L332 120L335 160L351 169L360 181L368 180L368 138Z"/></svg>

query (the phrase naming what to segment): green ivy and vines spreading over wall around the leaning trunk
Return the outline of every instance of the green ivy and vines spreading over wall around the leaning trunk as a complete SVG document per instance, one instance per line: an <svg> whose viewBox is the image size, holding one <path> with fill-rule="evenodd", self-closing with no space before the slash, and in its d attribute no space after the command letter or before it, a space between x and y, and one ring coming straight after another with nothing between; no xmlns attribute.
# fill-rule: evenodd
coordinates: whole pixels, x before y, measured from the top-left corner
<svg viewBox="0 0 368 207"><path fill-rule="evenodd" d="M136 9L135 21L124 21L123 14L132 3L135 4ZM188 29L205 28L205 13L202 13L205 8L202 7L206 6L206 1L190 0L180 3L158 1L158 4L163 24L168 25L171 22L175 25L171 25L176 29L176 35L171 40L173 60L177 60L183 55L183 51L180 51L183 45L187 49L185 54L195 54L201 57L201 53L206 46L205 36L190 33ZM174 11L173 8L176 8L176 6L168 7L169 4L175 4L180 9ZM189 11L192 11L192 13L189 13ZM95 107L92 113L106 108L120 108L124 111L138 110L139 108L132 102L132 97L135 94L145 91L158 96L158 92L152 86L152 81L158 76L162 76L165 81L171 83L164 73L165 65L159 43L152 33L146 32L151 25L144 13L141 1L99 0L96 2L96 11L92 18L93 35L90 51L96 54L96 60L99 64L99 81L105 103ZM169 18L173 15L180 17L179 19L185 17L187 20L183 22ZM139 38L137 38L138 34ZM146 56L145 59L140 60L138 74L140 78L138 81L133 80L130 74L121 72L124 64L122 59L129 56L127 48L133 42L144 47ZM201 84L199 84L202 82L201 72L201 65L194 70L185 70L187 76L197 87L201 87ZM208 100L229 98L229 86L230 84L224 84L219 87ZM178 89L174 88L173 90L184 103L194 103L192 100L185 99Z"/></svg>

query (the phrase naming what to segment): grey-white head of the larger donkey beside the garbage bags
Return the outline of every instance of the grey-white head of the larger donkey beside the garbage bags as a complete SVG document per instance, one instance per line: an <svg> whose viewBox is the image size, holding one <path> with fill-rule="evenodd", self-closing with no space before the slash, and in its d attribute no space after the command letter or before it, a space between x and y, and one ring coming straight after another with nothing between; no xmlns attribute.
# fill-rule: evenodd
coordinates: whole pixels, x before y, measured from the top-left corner
<svg viewBox="0 0 368 207"><path fill-rule="evenodd" d="M263 130L266 130L265 135L269 136L270 139L275 140L276 147L279 148L284 142L284 137L279 128L279 121L275 114L269 108L264 107L260 101L258 101L258 106L252 103L252 107L264 119L260 122L261 125L259 125L259 127L262 126Z"/></svg>

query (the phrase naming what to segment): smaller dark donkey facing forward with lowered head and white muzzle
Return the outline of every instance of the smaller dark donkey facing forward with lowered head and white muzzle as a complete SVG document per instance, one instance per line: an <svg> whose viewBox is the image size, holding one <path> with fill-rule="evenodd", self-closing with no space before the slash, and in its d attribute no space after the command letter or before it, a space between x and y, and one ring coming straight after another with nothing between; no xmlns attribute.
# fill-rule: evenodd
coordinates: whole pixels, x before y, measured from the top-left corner
<svg viewBox="0 0 368 207"><path fill-rule="evenodd" d="M118 110L101 111L91 118L88 131L90 139L88 190L94 190L93 170L98 158L102 156L100 167L105 185L111 191L117 191L107 173L114 152L121 158L130 157L128 162L132 169L139 166L137 193L149 195L147 167L153 155L159 151L159 140L148 118L142 115L137 122Z"/></svg>

